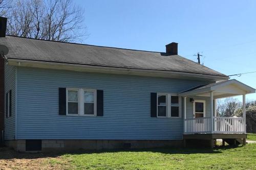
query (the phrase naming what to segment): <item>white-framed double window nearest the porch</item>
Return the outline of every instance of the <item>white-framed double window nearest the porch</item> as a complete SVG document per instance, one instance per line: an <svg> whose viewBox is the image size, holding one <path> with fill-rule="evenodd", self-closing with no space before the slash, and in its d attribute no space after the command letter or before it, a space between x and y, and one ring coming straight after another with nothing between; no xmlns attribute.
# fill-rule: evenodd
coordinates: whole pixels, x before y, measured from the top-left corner
<svg viewBox="0 0 256 170"><path fill-rule="evenodd" d="M175 94L157 94L157 117L180 117L180 98Z"/></svg>

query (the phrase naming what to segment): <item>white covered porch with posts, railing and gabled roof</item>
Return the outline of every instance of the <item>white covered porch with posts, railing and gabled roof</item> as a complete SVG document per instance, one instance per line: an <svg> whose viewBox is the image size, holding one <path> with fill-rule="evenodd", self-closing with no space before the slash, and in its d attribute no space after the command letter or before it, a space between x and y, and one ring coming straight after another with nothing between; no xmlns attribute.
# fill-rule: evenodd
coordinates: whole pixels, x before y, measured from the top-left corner
<svg viewBox="0 0 256 170"><path fill-rule="evenodd" d="M255 89L237 80L198 86L179 93L179 96L184 99L184 134L246 134L245 95L249 93L255 93ZM243 96L243 117L217 116L216 100L237 95ZM206 104L201 102L200 106L200 101L198 102L199 111L202 110L202 112L195 112L193 96L196 96L197 99L209 98L210 114L205 114ZM191 109L189 109L190 112L187 111L188 102L194 103L193 113L191 113Z"/></svg>

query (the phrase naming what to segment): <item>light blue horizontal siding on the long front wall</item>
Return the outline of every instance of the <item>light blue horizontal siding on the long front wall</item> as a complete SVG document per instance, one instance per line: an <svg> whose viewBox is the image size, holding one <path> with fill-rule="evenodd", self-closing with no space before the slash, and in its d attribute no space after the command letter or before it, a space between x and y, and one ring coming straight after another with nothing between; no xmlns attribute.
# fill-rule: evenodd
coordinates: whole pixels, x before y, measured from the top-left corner
<svg viewBox="0 0 256 170"><path fill-rule="evenodd" d="M183 118L155 118L151 92L205 84L139 76L18 67L18 139L181 139ZM104 90L102 117L58 115L58 88Z"/></svg>

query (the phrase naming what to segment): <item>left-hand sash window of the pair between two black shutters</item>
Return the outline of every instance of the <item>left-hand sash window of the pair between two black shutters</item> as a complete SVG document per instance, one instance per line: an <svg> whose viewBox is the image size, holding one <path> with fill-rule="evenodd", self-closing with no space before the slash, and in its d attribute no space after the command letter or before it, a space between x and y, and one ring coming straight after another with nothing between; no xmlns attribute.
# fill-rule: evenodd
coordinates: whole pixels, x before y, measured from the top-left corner
<svg viewBox="0 0 256 170"><path fill-rule="evenodd" d="M68 114L78 114L79 108L79 90L69 89L68 90Z"/></svg>

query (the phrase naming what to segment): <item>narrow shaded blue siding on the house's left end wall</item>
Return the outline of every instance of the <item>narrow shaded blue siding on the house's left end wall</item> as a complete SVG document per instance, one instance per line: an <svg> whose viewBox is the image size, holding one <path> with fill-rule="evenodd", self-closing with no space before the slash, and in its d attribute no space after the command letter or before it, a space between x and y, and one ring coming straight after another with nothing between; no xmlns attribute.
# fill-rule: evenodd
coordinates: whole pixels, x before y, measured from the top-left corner
<svg viewBox="0 0 256 170"><path fill-rule="evenodd" d="M5 139L15 138L15 66L5 65ZM6 93L12 90L12 115L6 118Z"/></svg>

